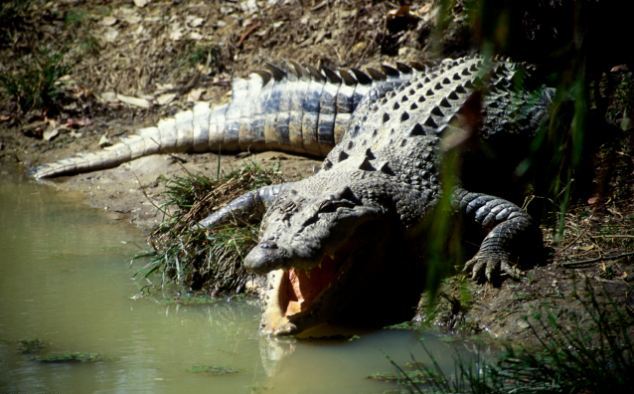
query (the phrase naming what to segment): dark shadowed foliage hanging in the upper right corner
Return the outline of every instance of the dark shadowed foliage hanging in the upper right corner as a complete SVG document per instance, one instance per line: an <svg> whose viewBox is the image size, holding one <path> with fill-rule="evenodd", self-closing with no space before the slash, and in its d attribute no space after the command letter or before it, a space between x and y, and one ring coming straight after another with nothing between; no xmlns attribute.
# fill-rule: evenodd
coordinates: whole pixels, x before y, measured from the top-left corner
<svg viewBox="0 0 634 394"><path fill-rule="evenodd" d="M469 42L463 46L474 46L485 56L510 56L535 64L538 80L556 88L548 119L515 171L515 182L523 181L541 197L533 200L531 213L555 209L561 218L578 198L598 192L608 199L620 192L618 184L600 177L612 176L601 171L605 166L623 166L604 162L599 167L595 160L603 155L618 161L616 152L631 144L631 133L615 129L632 127L634 85L628 84L630 72L621 65L631 62L632 56L604 45L629 34L627 22L620 23L627 14L623 7L618 2L572 0L437 0L436 4L439 13L431 38L438 39L431 48L437 53L447 49L438 44L444 43L442 37L466 29ZM597 184L608 183L612 188L597 190ZM559 220L556 240L563 230Z"/></svg>

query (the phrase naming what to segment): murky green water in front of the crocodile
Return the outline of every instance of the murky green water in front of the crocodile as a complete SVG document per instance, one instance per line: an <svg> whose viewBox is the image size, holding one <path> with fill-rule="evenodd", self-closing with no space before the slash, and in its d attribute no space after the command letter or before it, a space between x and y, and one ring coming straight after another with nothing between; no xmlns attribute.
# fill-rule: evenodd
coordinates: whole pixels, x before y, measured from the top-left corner
<svg viewBox="0 0 634 394"><path fill-rule="evenodd" d="M418 338L385 330L355 341L272 342L245 301L176 306L137 299L132 255L144 244L129 224L81 199L0 175L0 392L373 393L365 379L390 372ZM96 352L104 360L44 364L19 352L22 339L52 352ZM449 346L426 346L451 364ZM215 376L193 366L238 370Z"/></svg>

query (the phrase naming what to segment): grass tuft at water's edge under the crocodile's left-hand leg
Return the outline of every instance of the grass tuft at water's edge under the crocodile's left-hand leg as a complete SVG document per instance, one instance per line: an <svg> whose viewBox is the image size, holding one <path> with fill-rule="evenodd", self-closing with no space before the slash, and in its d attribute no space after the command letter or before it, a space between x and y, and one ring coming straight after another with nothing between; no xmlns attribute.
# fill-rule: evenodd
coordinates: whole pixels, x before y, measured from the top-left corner
<svg viewBox="0 0 634 394"><path fill-rule="evenodd" d="M255 164L217 180L201 174L168 180L165 216L149 237L154 250L138 275L186 291L243 292L251 276L242 260L255 245L257 224L233 222L211 230L195 224L246 191L279 181L275 170Z"/></svg>

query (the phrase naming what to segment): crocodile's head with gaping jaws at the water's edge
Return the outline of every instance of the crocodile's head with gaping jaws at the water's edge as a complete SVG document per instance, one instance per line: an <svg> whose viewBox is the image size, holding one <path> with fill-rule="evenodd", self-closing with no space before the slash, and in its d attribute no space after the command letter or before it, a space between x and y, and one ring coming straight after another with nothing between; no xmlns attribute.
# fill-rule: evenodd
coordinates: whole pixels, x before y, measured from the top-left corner
<svg viewBox="0 0 634 394"><path fill-rule="evenodd" d="M345 183L333 182L332 175L318 173L282 192L245 259L247 268L269 275L266 333L324 336L333 335L333 327L411 317L408 297L415 306L419 292L412 289L421 286L403 286L402 277L420 281L422 273L402 268L395 193L385 180L372 182L361 172L341 176Z"/></svg>

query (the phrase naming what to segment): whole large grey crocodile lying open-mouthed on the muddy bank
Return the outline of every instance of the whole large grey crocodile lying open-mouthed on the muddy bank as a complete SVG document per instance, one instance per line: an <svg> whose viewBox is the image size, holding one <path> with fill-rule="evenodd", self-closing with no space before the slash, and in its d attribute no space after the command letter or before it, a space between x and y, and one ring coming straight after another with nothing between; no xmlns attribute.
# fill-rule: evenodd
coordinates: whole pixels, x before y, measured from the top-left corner
<svg viewBox="0 0 634 394"><path fill-rule="evenodd" d="M518 64L478 55L366 71L270 66L234 82L227 105L196 106L107 153L45 165L34 176L205 146L325 156L314 175L248 192L199 225L261 218L258 244L244 264L268 278L263 332L314 336L333 325L382 326L414 314L425 287L425 234L437 210L482 234L465 264L474 279L521 275L512 264L517 251L540 239L531 217L508 200L441 177L441 167L474 135L530 141L553 90L515 89L525 76Z"/></svg>

